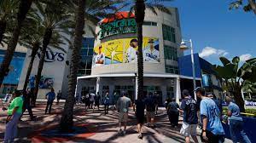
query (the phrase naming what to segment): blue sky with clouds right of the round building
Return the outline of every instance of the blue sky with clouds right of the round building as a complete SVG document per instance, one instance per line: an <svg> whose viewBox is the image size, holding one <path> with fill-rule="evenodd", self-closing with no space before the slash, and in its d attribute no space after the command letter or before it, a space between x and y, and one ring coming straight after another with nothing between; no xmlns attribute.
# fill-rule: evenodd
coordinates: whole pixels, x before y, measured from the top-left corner
<svg viewBox="0 0 256 143"><path fill-rule="evenodd" d="M212 64L219 56L241 60L256 57L256 15L242 9L229 10L231 0L174 0L183 39L192 39L195 53ZM185 52L189 54L189 51Z"/></svg>

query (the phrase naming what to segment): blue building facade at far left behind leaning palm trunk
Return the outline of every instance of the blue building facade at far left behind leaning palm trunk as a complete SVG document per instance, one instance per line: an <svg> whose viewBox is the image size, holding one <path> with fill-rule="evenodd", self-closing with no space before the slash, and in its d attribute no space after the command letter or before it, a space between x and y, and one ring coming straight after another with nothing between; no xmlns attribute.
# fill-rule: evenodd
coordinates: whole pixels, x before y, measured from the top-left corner
<svg viewBox="0 0 256 143"><path fill-rule="evenodd" d="M0 50L0 63L3 62L5 52L6 50ZM9 66L9 74L7 77L4 77L3 84L0 88L1 95L6 94L8 90L13 91L17 88L25 58L26 53L15 52Z"/></svg>

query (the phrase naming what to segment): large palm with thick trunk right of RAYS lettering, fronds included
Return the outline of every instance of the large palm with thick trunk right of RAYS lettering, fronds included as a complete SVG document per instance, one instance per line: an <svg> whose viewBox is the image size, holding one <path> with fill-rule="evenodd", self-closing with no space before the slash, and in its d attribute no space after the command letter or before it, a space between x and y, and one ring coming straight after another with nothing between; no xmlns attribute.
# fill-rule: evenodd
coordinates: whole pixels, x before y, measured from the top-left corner
<svg viewBox="0 0 256 143"><path fill-rule="evenodd" d="M76 27L75 37L73 42L73 54L71 59L70 76L68 82L68 94L64 111L62 112L60 127L62 131L70 131L73 128L73 105L74 105L74 94L77 84L77 74L79 67L79 52L82 48L82 35L84 34L84 23L85 26L89 26L92 33L95 29L88 23L94 25L103 18L106 17L111 11L117 10L113 5L121 3L120 0L78 0L77 3L73 3L72 0L67 0L66 3L70 5L71 12L75 14ZM75 8L75 9L73 9ZM73 11L74 10L74 11Z"/></svg>

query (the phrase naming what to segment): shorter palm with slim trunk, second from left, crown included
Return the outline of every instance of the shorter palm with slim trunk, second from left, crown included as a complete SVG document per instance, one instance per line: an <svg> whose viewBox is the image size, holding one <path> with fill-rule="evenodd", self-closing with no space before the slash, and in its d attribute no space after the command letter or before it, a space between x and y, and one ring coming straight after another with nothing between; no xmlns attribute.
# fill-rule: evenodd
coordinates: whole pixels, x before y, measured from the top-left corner
<svg viewBox="0 0 256 143"><path fill-rule="evenodd" d="M27 83L32 72L33 62L35 60L36 54L38 53L38 49L42 49L42 43L44 38L44 26L41 25L41 21L34 20L30 17L33 12L28 14L25 23L25 26L21 30L20 36L20 45L26 47L27 49L31 49L31 60L29 62L29 66L26 72L25 83L23 86L23 91L26 91ZM50 48L61 49L66 53L65 49L60 47L60 44L63 44L60 39L59 34L56 32L53 34L52 40L49 43Z"/></svg>

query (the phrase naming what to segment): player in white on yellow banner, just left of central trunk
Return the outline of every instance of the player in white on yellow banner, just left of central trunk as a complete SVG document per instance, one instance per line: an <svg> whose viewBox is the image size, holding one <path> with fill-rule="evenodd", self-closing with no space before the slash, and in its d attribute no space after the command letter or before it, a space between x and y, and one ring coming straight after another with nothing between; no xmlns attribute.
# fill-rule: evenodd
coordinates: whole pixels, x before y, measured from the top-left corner
<svg viewBox="0 0 256 143"><path fill-rule="evenodd" d="M137 61L137 39L131 39L130 47L126 50L128 63Z"/></svg>

